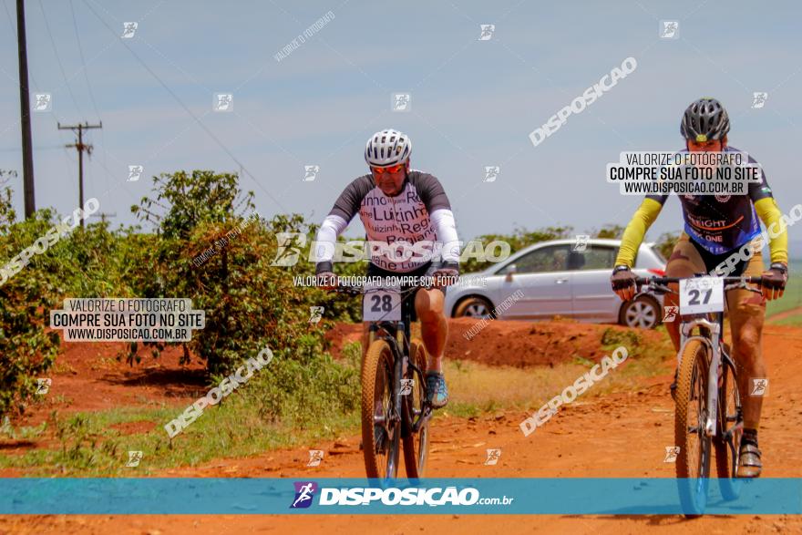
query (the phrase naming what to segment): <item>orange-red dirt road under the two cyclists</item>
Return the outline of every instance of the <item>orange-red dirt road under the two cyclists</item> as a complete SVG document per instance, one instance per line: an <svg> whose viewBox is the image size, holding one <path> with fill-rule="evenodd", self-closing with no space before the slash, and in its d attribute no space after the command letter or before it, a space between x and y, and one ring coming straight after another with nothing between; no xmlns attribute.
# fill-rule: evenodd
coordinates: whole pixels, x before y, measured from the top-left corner
<svg viewBox="0 0 802 535"><path fill-rule="evenodd" d="M761 448L765 477L802 477L802 329L766 327L769 395L764 402ZM522 370L526 373L526 370ZM530 437L519 430L522 413L466 420L437 419L429 459L431 477L673 477L663 463L673 444L669 376L644 380L627 394L580 398ZM203 468L177 468L165 477L362 477L359 437L257 458L221 459ZM306 468L307 450L324 449L324 462ZM486 449L501 448L497 466L484 466ZM0 518L0 533L802 533L802 518L726 516L215 516Z"/></svg>

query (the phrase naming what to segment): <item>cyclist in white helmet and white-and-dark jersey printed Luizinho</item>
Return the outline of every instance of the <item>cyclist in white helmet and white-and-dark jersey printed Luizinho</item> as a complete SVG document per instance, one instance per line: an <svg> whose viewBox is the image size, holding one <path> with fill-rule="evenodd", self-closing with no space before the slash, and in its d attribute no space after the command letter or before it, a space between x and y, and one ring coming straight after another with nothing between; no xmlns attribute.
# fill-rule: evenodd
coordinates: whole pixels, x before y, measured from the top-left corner
<svg viewBox="0 0 802 535"><path fill-rule="evenodd" d="M421 336L429 355L427 397L435 408L446 406L448 391L442 360L446 349L448 324L444 313L444 285L458 276L459 242L457 224L446 192L434 176L410 170L412 142L397 130L376 132L367 140L366 174L352 181L334 202L317 233L316 242L330 244L319 251L315 272L324 288L336 286L333 269L334 242L358 213L365 225L367 240L388 247L370 247L369 276L433 277L436 288L419 288L414 294L415 316L420 320ZM409 247L415 254L391 252ZM426 251L421 254L420 252ZM434 261L433 258L441 260ZM413 318L415 319L415 318ZM368 324L363 334L363 353L367 351Z"/></svg>

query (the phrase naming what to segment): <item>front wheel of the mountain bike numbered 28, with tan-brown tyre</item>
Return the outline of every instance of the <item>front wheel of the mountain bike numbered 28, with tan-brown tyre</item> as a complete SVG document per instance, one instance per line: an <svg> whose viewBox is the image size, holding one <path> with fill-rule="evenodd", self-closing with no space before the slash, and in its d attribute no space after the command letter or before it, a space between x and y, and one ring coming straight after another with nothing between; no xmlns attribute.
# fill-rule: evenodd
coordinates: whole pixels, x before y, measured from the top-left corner
<svg viewBox="0 0 802 535"><path fill-rule="evenodd" d="M385 340L368 347L362 365L362 444L368 478L396 478L400 422L394 417L393 350Z"/></svg>

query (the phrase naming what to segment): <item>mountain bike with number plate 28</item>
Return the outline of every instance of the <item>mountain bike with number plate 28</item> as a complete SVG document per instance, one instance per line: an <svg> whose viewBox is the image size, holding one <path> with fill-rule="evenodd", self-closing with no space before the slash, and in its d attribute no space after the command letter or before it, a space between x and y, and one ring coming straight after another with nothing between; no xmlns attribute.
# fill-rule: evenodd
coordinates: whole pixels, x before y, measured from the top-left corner
<svg viewBox="0 0 802 535"><path fill-rule="evenodd" d="M416 288L340 286L334 291L363 298L370 341L362 363L362 444L368 478L398 473L403 443L408 478L423 478L429 452L432 406L426 394L427 352L410 324Z"/></svg>

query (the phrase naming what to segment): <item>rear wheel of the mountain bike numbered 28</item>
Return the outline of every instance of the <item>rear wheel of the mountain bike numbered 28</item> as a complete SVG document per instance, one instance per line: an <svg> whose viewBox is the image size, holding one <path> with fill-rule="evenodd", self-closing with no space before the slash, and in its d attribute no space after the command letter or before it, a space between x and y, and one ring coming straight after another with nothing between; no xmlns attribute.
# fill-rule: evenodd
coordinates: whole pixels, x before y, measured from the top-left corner
<svg viewBox="0 0 802 535"><path fill-rule="evenodd" d="M417 433L412 433L412 425L423 416L424 402L426 401L427 352L420 340L413 340L409 345L409 360L414 363L419 372L412 366L407 366L407 379L415 382L412 392L404 396L404 422L405 432L402 434L404 442L404 466L408 478L423 478L426 474L427 458L429 456L429 425L426 422Z"/></svg>

